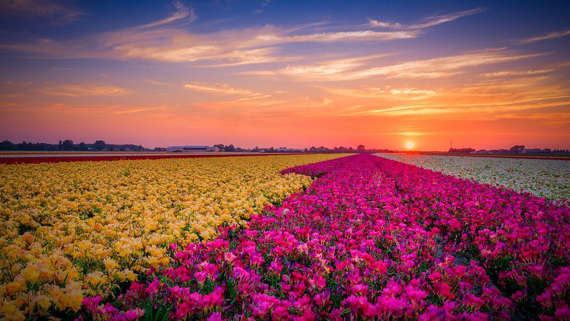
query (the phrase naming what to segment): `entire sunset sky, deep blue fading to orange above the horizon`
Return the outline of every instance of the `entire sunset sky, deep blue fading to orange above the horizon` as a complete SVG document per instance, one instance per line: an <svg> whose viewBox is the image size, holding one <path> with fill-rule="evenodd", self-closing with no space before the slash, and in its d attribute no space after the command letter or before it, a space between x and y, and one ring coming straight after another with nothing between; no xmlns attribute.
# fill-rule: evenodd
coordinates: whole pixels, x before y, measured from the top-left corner
<svg viewBox="0 0 570 321"><path fill-rule="evenodd" d="M0 1L0 140L570 149L570 1Z"/></svg>

